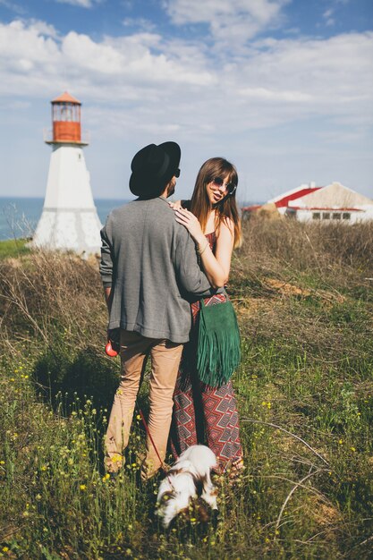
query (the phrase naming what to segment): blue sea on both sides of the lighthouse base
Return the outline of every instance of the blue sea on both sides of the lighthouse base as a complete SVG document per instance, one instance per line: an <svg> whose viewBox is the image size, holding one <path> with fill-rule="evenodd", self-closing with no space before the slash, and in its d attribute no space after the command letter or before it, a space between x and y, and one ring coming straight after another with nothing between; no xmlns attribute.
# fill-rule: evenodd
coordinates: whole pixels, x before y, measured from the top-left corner
<svg viewBox="0 0 373 560"><path fill-rule="evenodd" d="M97 214L101 224L113 208L121 206L129 200L95 199ZM41 212L44 198L2 198L0 197L0 240L32 237Z"/></svg>

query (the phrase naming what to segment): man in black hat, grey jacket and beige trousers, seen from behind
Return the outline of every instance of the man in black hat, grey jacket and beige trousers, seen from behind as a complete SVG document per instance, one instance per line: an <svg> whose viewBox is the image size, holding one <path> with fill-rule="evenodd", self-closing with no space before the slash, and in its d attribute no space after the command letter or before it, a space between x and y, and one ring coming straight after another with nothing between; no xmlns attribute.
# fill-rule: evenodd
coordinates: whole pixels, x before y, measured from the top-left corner
<svg viewBox="0 0 373 560"><path fill-rule="evenodd" d="M166 201L174 193L180 157L175 142L142 148L132 159L130 178L130 190L139 198L114 209L101 231L100 273L108 328L121 329L122 361L106 432L106 470L115 473L123 465L140 378L150 354L151 438L147 436L142 479L159 470L158 455L165 458L182 345L191 327L188 295L211 293L194 242Z"/></svg>

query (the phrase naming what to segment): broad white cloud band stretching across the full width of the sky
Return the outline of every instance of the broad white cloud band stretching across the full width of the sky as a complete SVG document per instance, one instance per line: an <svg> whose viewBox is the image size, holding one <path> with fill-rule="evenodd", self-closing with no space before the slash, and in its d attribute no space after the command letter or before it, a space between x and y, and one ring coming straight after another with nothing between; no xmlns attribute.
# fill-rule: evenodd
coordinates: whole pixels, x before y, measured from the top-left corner
<svg viewBox="0 0 373 560"><path fill-rule="evenodd" d="M373 32L267 38L228 58L198 40L151 32L94 40L13 21L0 24L0 95L69 89L95 126L118 136L164 130L208 141L319 117L363 130L373 121L372 55Z"/></svg>

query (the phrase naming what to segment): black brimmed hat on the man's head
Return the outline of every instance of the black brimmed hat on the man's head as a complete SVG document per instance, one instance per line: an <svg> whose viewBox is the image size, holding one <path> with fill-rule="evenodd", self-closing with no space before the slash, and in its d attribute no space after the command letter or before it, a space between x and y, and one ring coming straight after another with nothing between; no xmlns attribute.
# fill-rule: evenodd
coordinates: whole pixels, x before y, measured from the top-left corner
<svg viewBox="0 0 373 560"><path fill-rule="evenodd" d="M145 198L159 196L176 173L181 155L176 142L149 144L140 149L131 161L131 193Z"/></svg>

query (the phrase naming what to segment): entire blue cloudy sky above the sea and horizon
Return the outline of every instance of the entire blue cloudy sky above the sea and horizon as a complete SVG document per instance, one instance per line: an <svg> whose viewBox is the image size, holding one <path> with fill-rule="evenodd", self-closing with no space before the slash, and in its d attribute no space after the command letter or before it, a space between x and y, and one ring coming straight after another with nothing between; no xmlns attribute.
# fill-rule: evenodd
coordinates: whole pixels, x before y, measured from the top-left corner
<svg viewBox="0 0 373 560"><path fill-rule="evenodd" d="M0 0L0 196L44 197L50 100L82 102L93 195L182 148L177 191L226 157L241 201L333 181L373 199L373 0Z"/></svg>

